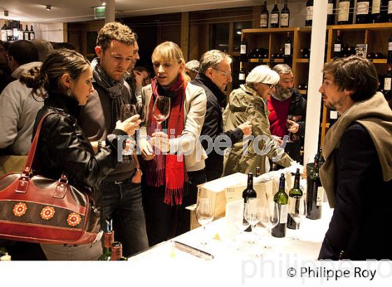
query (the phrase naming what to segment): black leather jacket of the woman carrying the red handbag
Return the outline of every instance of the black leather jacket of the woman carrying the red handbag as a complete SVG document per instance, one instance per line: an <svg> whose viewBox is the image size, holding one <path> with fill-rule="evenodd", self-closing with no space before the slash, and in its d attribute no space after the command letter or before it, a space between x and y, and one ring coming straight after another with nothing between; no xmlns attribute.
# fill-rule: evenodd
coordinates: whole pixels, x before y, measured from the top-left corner
<svg viewBox="0 0 392 287"><path fill-rule="evenodd" d="M114 130L106 137L106 147L95 154L76 123L78 102L64 94L50 93L36 116L33 137L41 118L52 111L57 113L48 116L41 127L33 168L51 179L59 179L64 172L73 185L97 186L117 167L117 138L126 133Z"/></svg>

